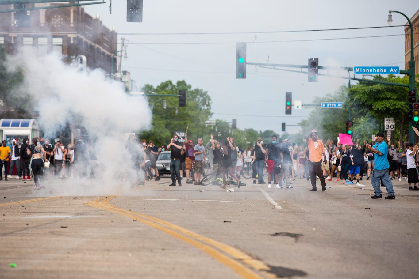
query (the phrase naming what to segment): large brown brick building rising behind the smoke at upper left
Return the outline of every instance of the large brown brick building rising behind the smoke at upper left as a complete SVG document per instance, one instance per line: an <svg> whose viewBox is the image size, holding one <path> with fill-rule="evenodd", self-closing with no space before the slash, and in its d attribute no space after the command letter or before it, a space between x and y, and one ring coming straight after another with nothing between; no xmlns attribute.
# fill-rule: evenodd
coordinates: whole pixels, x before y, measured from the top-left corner
<svg viewBox="0 0 419 279"><path fill-rule="evenodd" d="M68 5L65 3L36 3L35 7ZM77 3L77 2L70 2ZM0 10L14 5L0 5ZM97 34L99 33L99 34ZM111 72L111 56L116 52L116 29L103 26L99 15L85 13L83 6L31 10L29 13L0 13L0 44L8 54L19 48L35 48L37 55L52 51L63 57L85 55L89 68ZM71 63L72 59L64 59ZM116 72L114 57L114 73Z"/></svg>

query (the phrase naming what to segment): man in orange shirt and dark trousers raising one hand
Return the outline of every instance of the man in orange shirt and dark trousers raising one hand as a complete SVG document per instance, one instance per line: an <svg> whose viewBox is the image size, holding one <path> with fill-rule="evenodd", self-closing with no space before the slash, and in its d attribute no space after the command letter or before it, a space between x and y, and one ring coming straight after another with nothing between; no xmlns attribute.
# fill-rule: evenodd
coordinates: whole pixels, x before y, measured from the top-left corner
<svg viewBox="0 0 419 279"><path fill-rule="evenodd" d="M305 136L305 141L308 144L308 172L310 173L310 180L313 189L310 191L317 191L316 175L320 178L321 190L326 191L326 181L321 171L321 159L324 158L323 164L326 164L326 154L324 153L323 142L317 139L317 130L311 129Z"/></svg>

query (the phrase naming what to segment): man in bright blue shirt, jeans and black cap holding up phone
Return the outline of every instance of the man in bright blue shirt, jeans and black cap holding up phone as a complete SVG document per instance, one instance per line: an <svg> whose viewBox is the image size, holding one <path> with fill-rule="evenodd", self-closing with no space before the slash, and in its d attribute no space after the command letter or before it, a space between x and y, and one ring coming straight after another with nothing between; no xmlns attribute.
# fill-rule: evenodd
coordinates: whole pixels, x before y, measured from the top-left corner
<svg viewBox="0 0 419 279"><path fill-rule="evenodd" d="M394 190L393 184L391 183L390 176L388 175L388 168L390 168L390 164L387 160L387 144L384 142L384 133L379 132L377 133L377 143L374 146L371 146L367 143L367 148L369 151L374 153L374 169L372 170L371 174L371 184L374 187L375 195L372 196L372 199L381 199L383 196L381 195L380 189L380 180L383 182L385 189L387 189L388 197L385 197L386 200L393 200L394 197Z"/></svg>

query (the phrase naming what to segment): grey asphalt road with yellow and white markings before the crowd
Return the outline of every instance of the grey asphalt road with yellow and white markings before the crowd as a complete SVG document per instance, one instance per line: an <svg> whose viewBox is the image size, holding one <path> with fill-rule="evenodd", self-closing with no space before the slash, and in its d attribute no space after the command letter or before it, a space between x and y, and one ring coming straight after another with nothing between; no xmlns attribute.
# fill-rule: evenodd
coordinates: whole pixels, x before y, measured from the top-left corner
<svg viewBox="0 0 419 279"><path fill-rule="evenodd" d="M418 278L419 192L405 181L395 200L370 199L369 181L324 192L305 179L243 182L226 192L57 179L39 191L3 180L0 277Z"/></svg>

